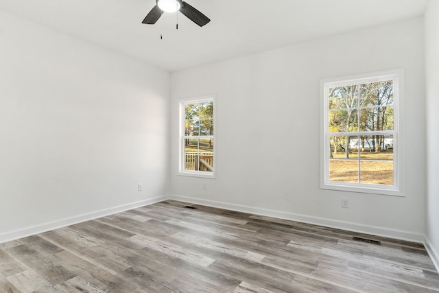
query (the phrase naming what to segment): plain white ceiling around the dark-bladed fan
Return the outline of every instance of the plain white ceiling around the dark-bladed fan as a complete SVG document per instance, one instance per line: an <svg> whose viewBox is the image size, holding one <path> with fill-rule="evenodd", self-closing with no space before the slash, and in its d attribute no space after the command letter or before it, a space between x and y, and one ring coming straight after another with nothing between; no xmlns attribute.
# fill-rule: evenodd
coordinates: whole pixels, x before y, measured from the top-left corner
<svg viewBox="0 0 439 293"><path fill-rule="evenodd" d="M206 14L211 22L198 27L178 12L164 14L155 25L144 25L141 21L154 7L155 0L0 0L0 10L167 71L177 71L422 16L428 3L428 0L186 1Z"/></svg>

